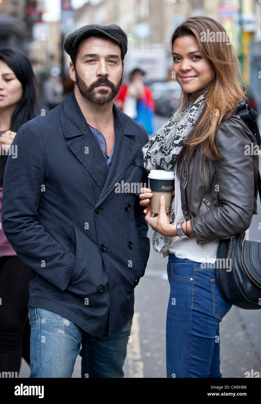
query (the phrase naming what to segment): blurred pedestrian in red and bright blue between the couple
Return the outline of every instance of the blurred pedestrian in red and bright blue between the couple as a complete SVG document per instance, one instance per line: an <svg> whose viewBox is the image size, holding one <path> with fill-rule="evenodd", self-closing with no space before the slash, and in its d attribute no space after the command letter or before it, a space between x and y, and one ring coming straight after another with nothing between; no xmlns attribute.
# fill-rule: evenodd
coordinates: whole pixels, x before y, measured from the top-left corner
<svg viewBox="0 0 261 404"><path fill-rule="evenodd" d="M156 107L152 91L143 82L145 74L140 68L133 69L129 75L130 82L121 86L114 102L125 114L140 122L151 135L154 133Z"/></svg>

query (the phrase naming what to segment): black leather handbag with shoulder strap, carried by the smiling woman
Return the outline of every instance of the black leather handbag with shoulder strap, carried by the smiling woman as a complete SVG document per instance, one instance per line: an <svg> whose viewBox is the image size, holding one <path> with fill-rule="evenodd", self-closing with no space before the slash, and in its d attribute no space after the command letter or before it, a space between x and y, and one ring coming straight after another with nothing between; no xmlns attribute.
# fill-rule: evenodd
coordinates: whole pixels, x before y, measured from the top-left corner
<svg viewBox="0 0 261 404"><path fill-rule="evenodd" d="M257 140L259 150L261 138L257 122L258 114L244 99L236 104L240 118L248 124ZM261 177L257 186L261 201ZM246 233L220 240L217 248L217 284L226 302L241 309L261 309L261 243L245 240Z"/></svg>

